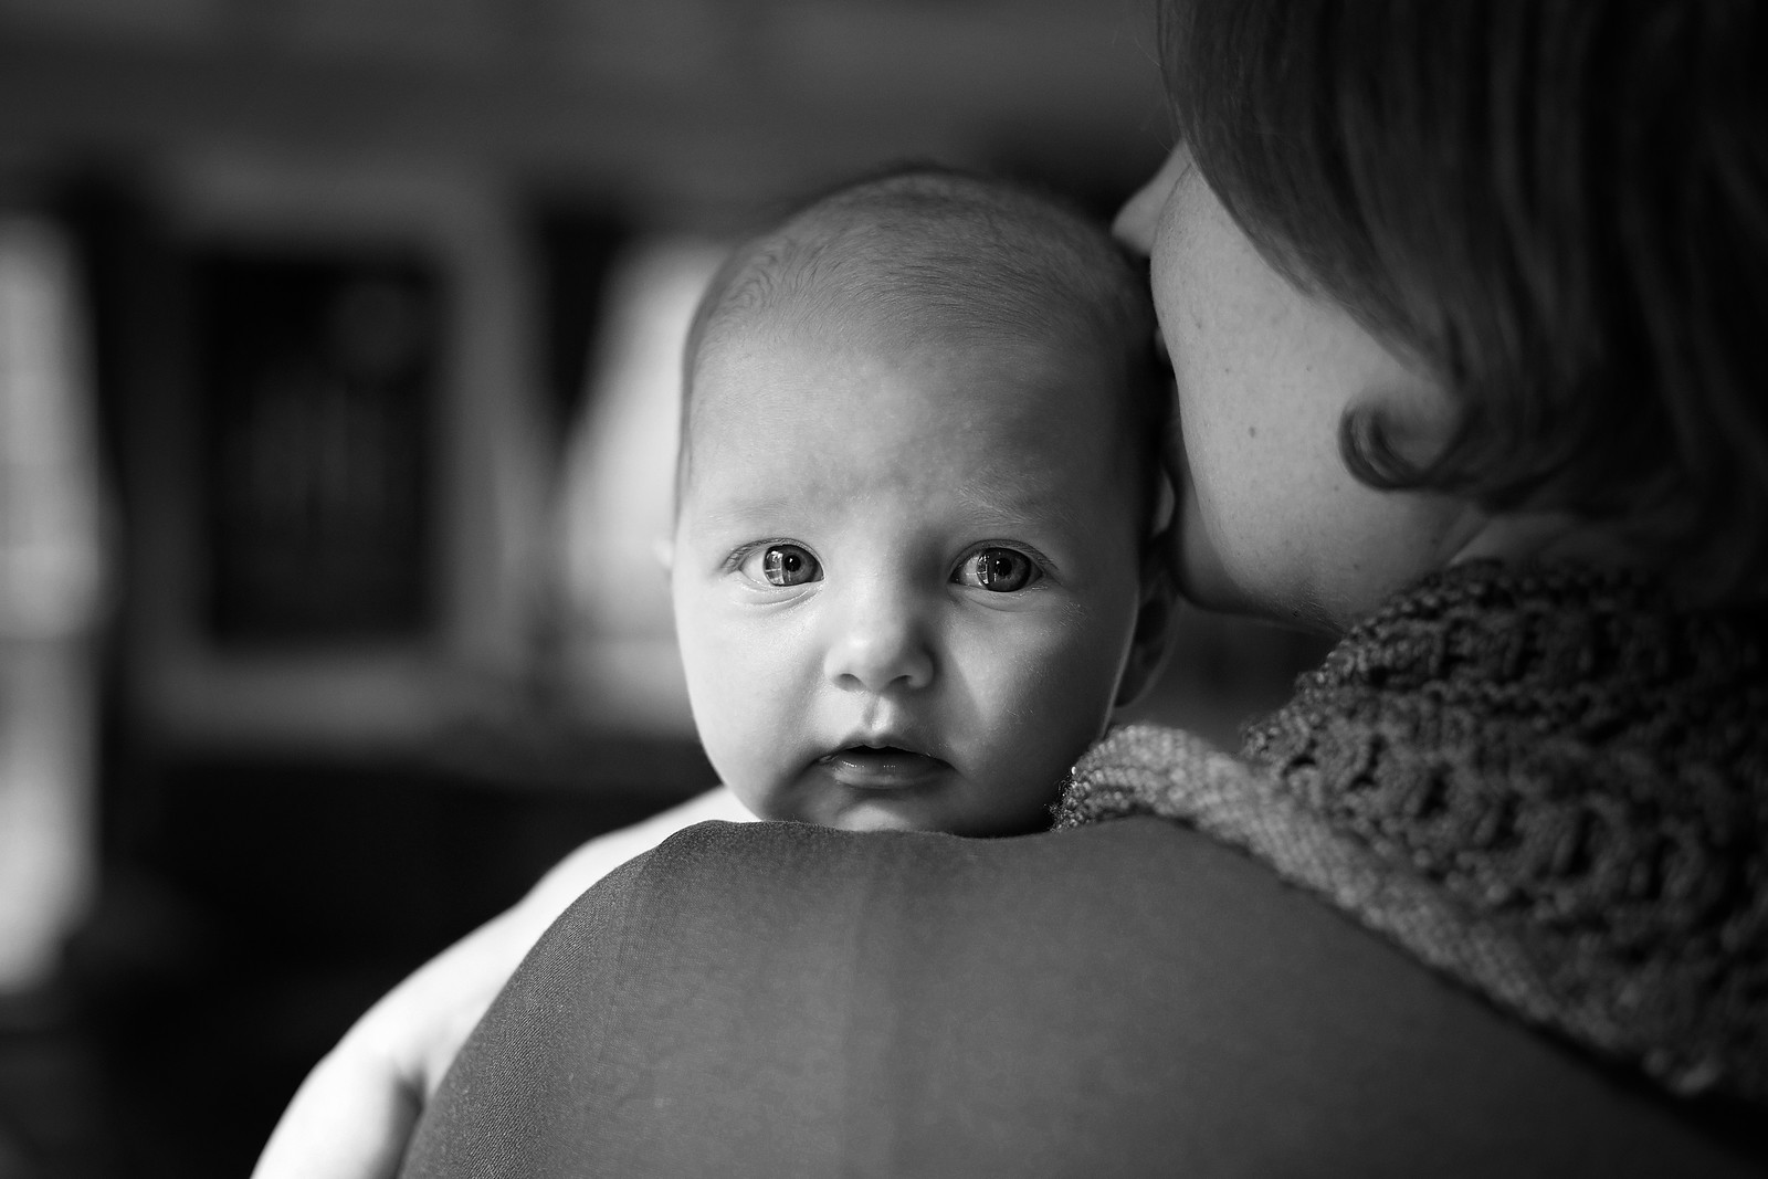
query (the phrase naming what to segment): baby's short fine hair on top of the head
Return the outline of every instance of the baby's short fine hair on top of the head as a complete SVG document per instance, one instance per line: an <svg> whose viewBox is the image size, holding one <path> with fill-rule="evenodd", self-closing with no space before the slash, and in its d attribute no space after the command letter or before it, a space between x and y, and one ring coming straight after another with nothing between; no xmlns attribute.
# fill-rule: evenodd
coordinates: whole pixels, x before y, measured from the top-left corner
<svg viewBox="0 0 1768 1179"><path fill-rule="evenodd" d="M909 164L829 191L737 246L688 332L677 488L691 461L700 357L723 331L760 316L866 345L985 336L1093 348L1116 364L1100 396L1124 399L1114 407L1133 449L1124 458L1156 486L1170 391L1146 270L1061 196Z"/></svg>

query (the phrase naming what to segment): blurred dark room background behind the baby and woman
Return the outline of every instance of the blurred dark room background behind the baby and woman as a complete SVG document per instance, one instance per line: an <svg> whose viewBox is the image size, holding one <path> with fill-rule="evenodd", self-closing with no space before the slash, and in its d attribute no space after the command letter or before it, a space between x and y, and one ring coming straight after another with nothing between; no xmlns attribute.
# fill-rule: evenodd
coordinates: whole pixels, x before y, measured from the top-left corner
<svg viewBox="0 0 1768 1179"><path fill-rule="evenodd" d="M654 541L720 249L1100 216L1142 0L0 0L0 1179L242 1175L380 992L711 785ZM1317 645L1188 615L1232 741Z"/></svg>

